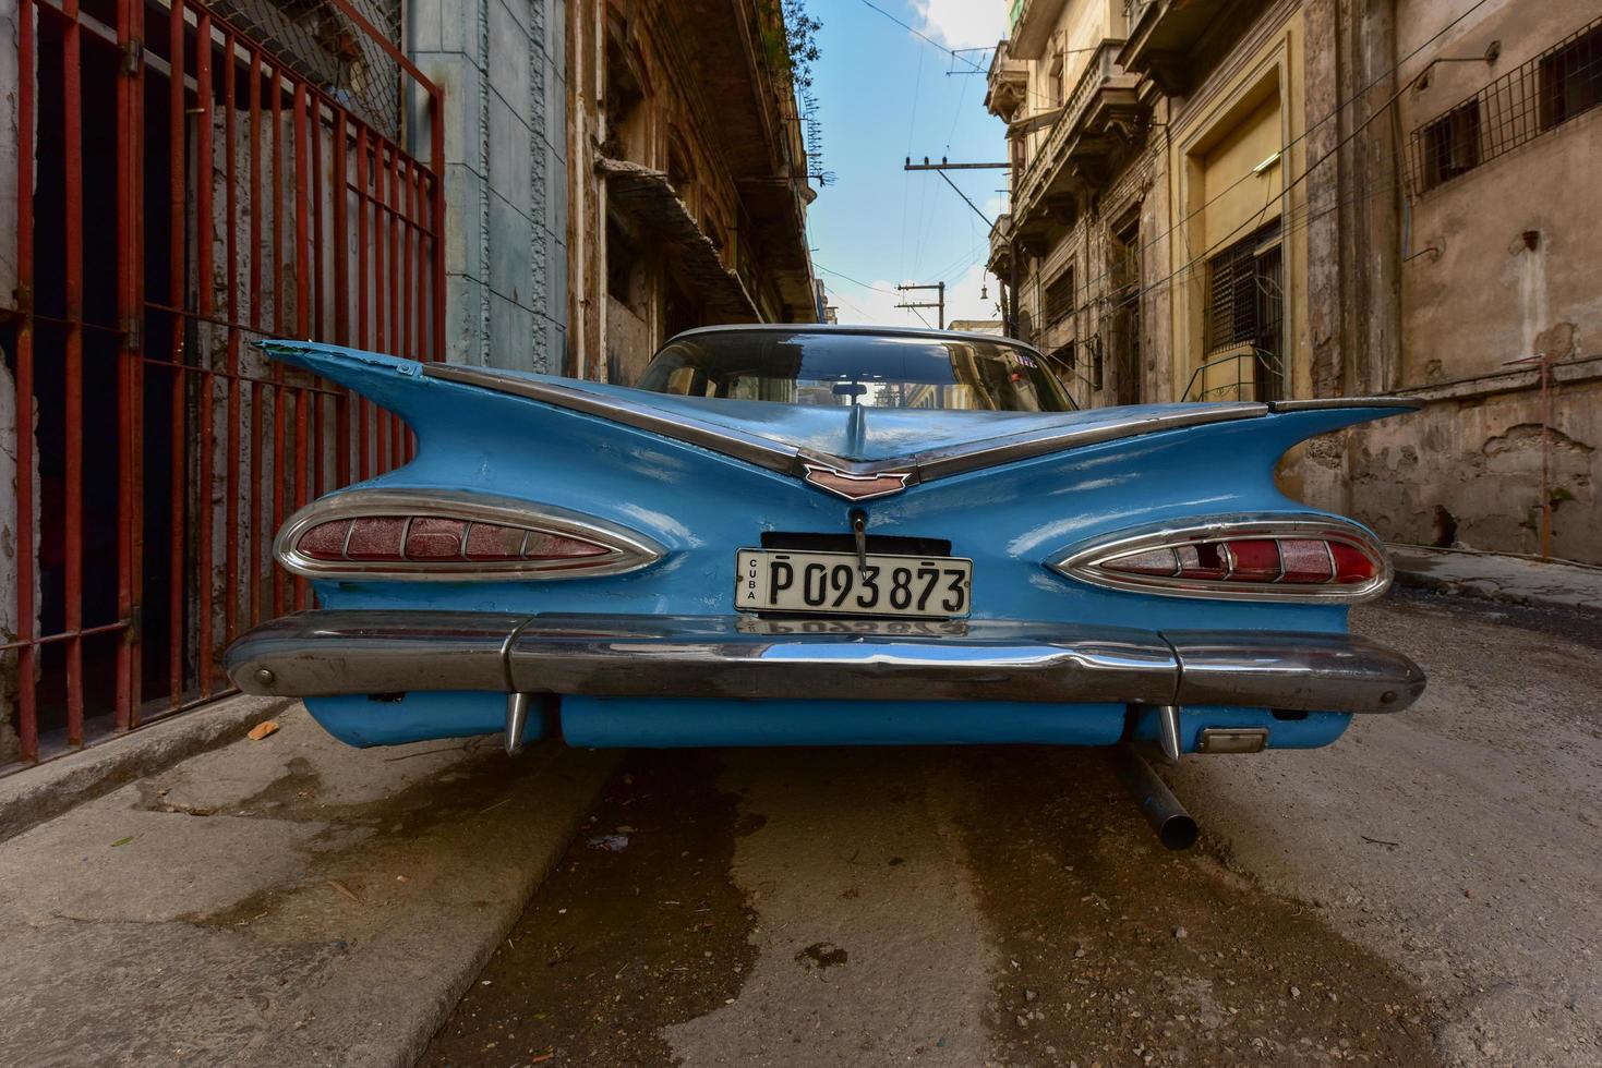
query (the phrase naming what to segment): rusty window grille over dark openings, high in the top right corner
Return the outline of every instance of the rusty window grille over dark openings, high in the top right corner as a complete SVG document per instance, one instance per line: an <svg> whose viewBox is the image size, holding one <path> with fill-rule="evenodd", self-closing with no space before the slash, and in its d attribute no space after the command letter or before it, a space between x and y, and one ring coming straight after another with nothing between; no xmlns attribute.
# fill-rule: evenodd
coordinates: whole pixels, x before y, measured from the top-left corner
<svg viewBox="0 0 1602 1068"><path fill-rule="evenodd" d="M1408 183L1424 194L1602 104L1602 19L1514 67L1408 138Z"/></svg>

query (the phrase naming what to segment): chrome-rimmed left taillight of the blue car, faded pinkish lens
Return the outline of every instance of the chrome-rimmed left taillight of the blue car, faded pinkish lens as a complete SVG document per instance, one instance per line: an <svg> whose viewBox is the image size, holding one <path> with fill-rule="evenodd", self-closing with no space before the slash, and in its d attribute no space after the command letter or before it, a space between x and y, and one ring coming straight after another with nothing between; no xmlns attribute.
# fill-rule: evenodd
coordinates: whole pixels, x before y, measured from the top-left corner
<svg viewBox="0 0 1602 1068"><path fill-rule="evenodd" d="M650 540L564 508L449 490L351 490L304 508L276 544L312 578L564 578L662 557Z"/></svg>

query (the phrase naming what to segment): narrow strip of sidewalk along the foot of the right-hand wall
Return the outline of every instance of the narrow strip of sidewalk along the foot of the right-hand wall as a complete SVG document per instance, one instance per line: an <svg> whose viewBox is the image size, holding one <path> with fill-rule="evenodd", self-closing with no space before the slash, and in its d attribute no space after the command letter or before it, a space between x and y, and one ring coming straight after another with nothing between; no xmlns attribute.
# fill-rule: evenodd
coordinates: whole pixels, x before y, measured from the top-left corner
<svg viewBox="0 0 1602 1068"><path fill-rule="evenodd" d="M1389 544L1399 586L1490 600L1602 612L1602 568L1498 552Z"/></svg>

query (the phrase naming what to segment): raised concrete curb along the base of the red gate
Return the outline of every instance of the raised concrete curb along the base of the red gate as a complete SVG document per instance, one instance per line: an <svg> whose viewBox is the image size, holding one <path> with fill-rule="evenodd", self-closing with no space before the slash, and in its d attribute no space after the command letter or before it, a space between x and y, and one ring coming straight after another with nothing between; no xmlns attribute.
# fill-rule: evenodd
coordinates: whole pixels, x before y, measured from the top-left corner
<svg viewBox="0 0 1602 1068"><path fill-rule="evenodd" d="M245 733L293 701L235 695L0 778L0 842Z"/></svg>

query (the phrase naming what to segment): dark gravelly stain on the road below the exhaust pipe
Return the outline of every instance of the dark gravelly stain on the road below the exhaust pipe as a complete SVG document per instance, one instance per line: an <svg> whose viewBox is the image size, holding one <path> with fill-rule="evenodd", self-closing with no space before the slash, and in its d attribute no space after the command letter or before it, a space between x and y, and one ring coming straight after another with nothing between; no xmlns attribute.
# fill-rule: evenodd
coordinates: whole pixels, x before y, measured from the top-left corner
<svg viewBox="0 0 1602 1068"><path fill-rule="evenodd" d="M1000 1062L1437 1063L1400 972L1310 906L1165 850L1105 754L972 749L964 767Z"/></svg>

